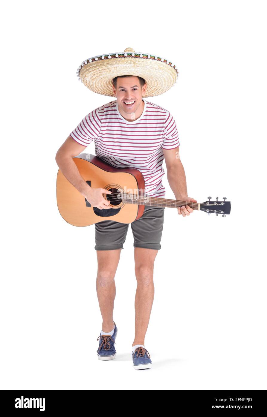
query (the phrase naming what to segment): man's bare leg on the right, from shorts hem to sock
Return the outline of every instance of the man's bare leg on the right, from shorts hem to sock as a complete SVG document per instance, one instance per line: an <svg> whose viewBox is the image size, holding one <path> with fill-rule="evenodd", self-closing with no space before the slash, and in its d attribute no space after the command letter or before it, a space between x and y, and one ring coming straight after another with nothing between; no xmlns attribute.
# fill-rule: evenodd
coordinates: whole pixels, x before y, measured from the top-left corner
<svg viewBox="0 0 267 417"><path fill-rule="evenodd" d="M135 274L135 344L145 345L145 335L154 299L153 269L157 249L134 248Z"/></svg>

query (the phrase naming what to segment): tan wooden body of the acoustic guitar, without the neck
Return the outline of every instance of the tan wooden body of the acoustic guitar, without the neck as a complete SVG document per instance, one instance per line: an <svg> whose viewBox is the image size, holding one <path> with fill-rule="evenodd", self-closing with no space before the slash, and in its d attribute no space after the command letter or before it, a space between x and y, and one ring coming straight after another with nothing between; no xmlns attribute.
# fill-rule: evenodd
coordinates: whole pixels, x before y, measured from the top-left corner
<svg viewBox="0 0 267 417"><path fill-rule="evenodd" d="M73 161L89 186L112 191L112 194L103 193L103 196L106 200L111 201L110 204L113 208L100 210L97 207L91 207L89 201L59 169L57 173L57 206L59 213L69 224L90 226L104 220L132 223L143 215L144 205L128 204L116 198L117 194L127 193L127 190L136 195L140 193L140 190L145 192L145 181L138 169L115 168L90 153L81 153L74 157Z"/></svg>

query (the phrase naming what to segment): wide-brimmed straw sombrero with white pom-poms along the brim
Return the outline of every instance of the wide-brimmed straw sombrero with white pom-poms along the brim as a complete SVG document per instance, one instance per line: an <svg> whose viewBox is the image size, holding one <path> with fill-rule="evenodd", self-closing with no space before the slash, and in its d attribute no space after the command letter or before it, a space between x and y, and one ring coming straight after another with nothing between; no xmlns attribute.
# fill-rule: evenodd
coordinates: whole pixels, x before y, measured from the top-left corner
<svg viewBox="0 0 267 417"><path fill-rule="evenodd" d="M165 58L145 53L135 53L126 48L122 53L97 55L83 61L77 77L95 93L114 97L112 79L119 75L135 75L146 80L143 97L160 95L177 81L176 66Z"/></svg>

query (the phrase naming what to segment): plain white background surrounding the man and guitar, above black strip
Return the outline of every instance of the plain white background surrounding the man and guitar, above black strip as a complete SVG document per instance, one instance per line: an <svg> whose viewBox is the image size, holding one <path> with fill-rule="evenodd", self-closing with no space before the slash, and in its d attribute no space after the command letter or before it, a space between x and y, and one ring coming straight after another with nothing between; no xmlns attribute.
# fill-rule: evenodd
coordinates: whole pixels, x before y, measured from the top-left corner
<svg viewBox="0 0 267 417"><path fill-rule="evenodd" d="M267 389L264 8L255 0L3 6L1 389ZM69 225L56 200L57 149L112 100L76 70L127 47L178 67L178 82L147 100L176 120L188 195L232 205L225 218L165 209L145 339L153 368L141 373L131 358L131 229L115 278L117 356L99 361L94 226ZM166 174L163 184L174 198Z"/></svg>

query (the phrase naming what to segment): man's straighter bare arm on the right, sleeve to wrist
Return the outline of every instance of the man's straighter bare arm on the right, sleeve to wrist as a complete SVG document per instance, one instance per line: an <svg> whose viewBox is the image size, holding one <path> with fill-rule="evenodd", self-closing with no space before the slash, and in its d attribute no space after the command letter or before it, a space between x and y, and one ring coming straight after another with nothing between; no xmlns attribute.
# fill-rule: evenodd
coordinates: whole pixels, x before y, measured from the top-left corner
<svg viewBox="0 0 267 417"><path fill-rule="evenodd" d="M179 148L163 149L166 162L168 183L176 197L176 200L183 200L187 195L185 170L180 160Z"/></svg>

